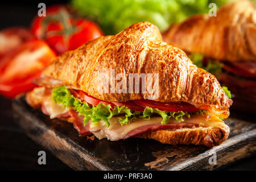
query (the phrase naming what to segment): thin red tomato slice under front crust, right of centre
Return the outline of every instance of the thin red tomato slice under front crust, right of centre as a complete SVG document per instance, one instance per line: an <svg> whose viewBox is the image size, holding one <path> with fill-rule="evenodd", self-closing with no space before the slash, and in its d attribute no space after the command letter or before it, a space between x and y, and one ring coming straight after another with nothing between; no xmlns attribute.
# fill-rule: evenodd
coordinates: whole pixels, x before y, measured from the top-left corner
<svg viewBox="0 0 256 182"><path fill-rule="evenodd" d="M177 111L188 111L188 112L193 112L197 111L195 106L188 104L186 102L182 103L174 103L174 102L158 102L158 101L152 101L152 100L133 100L136 104L144 107L152 107L155 109L159 110L165 110L165 111L172 111L172 112L177 112Z"/></svg>

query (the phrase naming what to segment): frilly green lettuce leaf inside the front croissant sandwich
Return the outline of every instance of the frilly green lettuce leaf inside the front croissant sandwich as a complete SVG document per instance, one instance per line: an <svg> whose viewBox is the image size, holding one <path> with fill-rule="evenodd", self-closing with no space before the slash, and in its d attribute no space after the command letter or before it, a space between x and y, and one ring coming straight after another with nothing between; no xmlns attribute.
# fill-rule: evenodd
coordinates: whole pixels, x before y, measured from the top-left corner
<svg viewBox="0 0 256 182"><path fill-rule="evenodd" d="M160 115L163 119L162 124L167 124L170 118L175 118L177 121L184 121L184 117L190 118L188 112L178 111L178 112L168 112L159 109L153 109L151 107L146 107L143 112L130 110L126 106L115 106L114 109L110 105L104 105L102 103L97 106L89 106L87 102L82 102L78 98L74 97L68 90L66 86L59 86L52 89L52 99L53 101L63 105L63 107L76 110L79 115L84 116L84 125L89 120L92 123L97 124L99 121L104 121L106 126L109 127L109 119L114 115L120 115L118 117L119 123L121 125L126 125L130 123L133 119L139 117L149 120L152 115ZM201 111L202 113L203 111Z"/></svg>

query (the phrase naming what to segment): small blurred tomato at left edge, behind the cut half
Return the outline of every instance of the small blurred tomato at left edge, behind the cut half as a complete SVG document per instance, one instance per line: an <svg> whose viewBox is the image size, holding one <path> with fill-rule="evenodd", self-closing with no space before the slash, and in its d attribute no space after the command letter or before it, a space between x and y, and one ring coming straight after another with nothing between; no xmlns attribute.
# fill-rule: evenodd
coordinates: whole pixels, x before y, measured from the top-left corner
<svg viewBox="0 0 256 182"><path fill-rule="evenodd" d="M0 59L7 52L31 39L34 39L34 36L27 28L11 27L0 31Z"/></svg>

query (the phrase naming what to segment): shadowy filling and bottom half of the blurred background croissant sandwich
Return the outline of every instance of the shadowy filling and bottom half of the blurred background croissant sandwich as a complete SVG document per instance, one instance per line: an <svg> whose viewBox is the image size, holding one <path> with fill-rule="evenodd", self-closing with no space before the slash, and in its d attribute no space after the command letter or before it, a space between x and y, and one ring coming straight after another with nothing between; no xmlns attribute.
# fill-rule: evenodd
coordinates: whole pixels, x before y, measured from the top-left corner
<svg viewBox="0 0 256 182"><path fill-rule="evenodd" d="M232 91L232 98L236 103L234 109L247 112L256 110L256 63L212 60L199 53L188 55L193 64L212 73L222 86ZM231 94L228 96L231 98Z"/></svg>

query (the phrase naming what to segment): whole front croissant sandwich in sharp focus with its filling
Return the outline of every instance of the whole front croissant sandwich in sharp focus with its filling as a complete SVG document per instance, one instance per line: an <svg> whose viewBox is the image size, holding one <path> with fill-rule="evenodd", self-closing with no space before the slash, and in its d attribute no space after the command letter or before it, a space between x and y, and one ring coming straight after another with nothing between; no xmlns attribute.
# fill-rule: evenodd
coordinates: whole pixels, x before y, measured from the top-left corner
<svg viewBox="0 0 256 182"><path fill-rule="evenodd" d="M222 119L232 100L216 77L148 22L63 53L35 82L27 103L72 122L81 136L212 147L229 135Z"/></svg>

